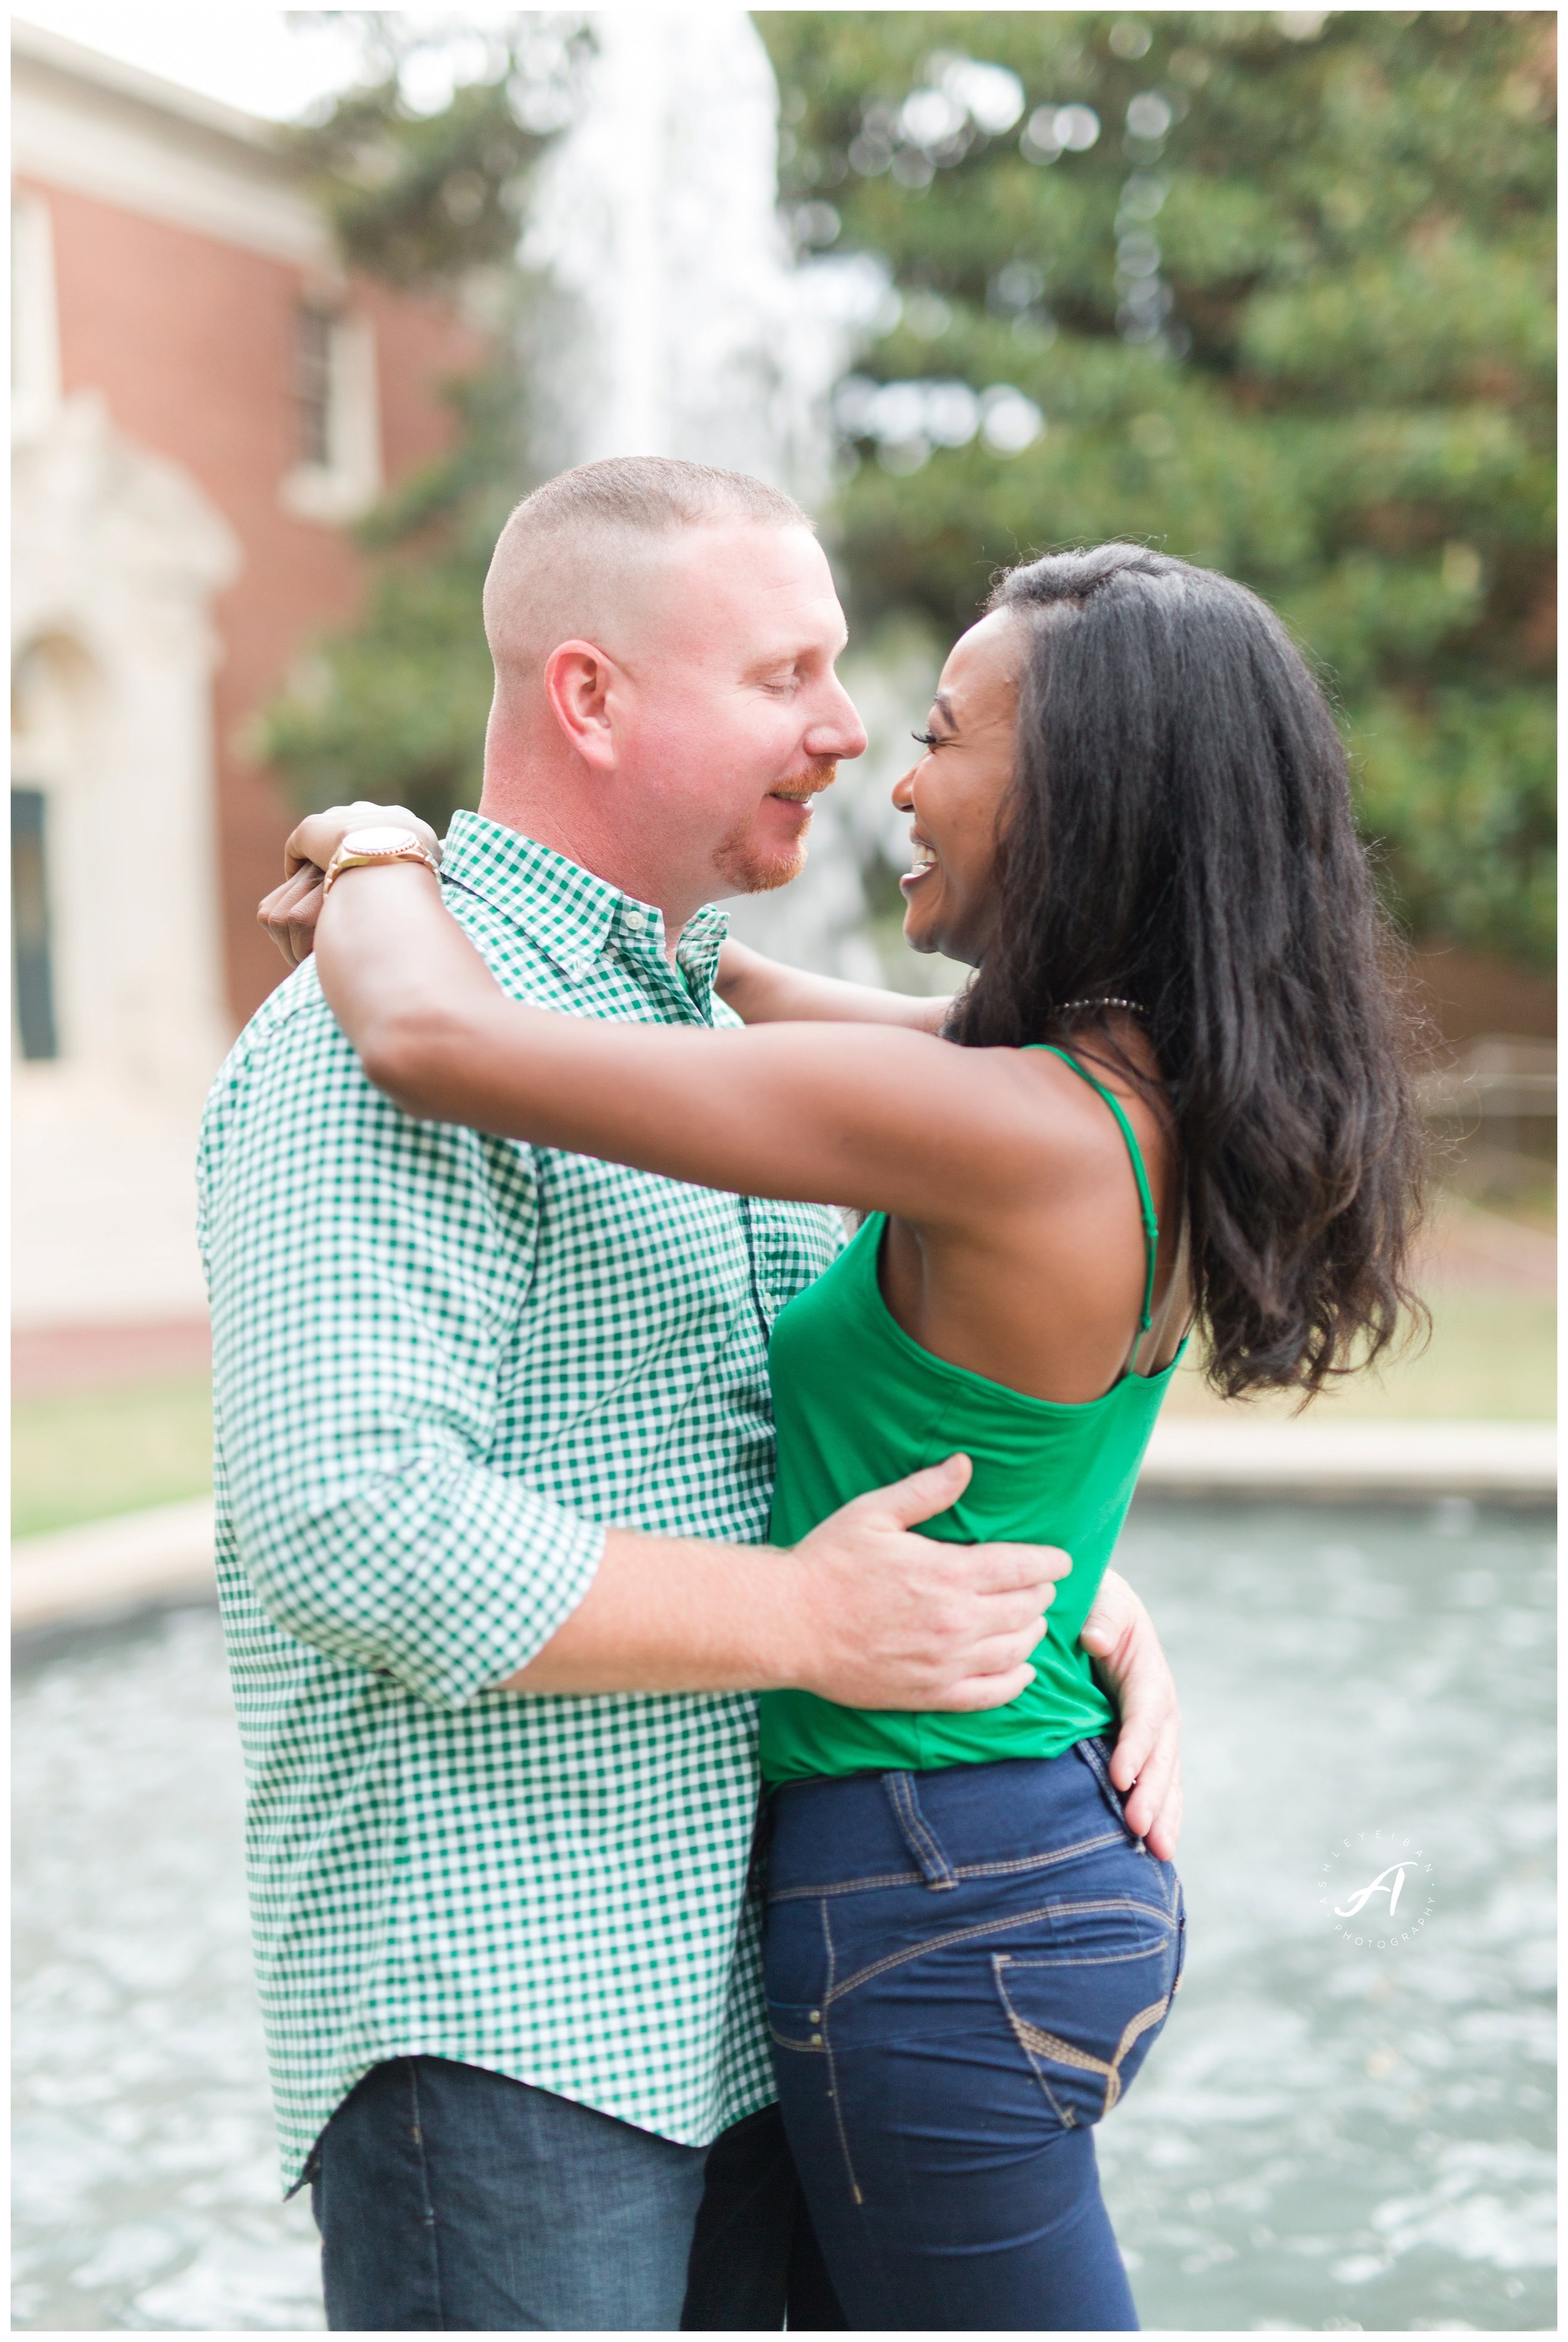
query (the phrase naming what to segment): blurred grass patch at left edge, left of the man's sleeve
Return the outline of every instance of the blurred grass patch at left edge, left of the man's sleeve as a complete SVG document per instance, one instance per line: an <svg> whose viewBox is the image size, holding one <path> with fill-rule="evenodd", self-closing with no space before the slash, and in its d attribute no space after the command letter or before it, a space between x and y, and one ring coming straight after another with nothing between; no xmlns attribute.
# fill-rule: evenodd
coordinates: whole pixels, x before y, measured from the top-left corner
<svg viewBox="0 0 1568 2342"><path fill-rule="evenodd" d="M206 1372L119 1391L51 1391L12 1408L12 1536L178 1504L211 1485Z"/></svg>

